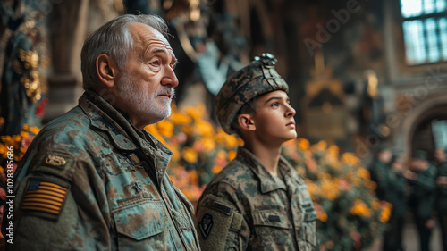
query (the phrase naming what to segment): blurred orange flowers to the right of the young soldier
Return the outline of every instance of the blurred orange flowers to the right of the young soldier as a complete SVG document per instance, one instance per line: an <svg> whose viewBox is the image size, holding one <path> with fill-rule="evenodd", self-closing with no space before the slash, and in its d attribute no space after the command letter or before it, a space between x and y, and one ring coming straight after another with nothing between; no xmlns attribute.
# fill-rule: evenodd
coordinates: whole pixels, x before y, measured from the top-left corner
<svg viewBox="0 0 447 251"><path fill-rule="evenodd" d="M382 236L392 205L375 197L375 182L360 159L320 141L286 142L283 155L308 184L323 250L360 250Z"/></svg>

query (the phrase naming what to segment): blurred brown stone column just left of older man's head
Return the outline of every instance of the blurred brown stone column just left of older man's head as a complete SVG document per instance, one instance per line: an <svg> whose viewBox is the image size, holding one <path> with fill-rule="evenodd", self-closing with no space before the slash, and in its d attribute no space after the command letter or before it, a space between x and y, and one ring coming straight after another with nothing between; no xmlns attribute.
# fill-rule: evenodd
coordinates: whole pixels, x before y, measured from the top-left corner
<svg viewBox="0 0 447 251"><path fill-rule="evenodd" d="M82 93L80 50L86 35L89 0L55 1L49 16L53 72L47 77L49 103L44 122L77 105Z"/></svg>

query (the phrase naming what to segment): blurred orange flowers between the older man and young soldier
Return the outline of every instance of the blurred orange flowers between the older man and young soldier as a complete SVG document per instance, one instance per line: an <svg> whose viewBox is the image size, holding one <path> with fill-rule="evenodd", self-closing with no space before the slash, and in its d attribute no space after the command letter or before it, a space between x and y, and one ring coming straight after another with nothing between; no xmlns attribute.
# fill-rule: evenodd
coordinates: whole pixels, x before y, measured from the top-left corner
<svg viewBox="0 0 447 251"><path fill-rule="evenodd" d="M227 135L207 119L205 105L188 106L173 112L164 121L145 129L174 155L168 173L173 184L197 201L213 175L236 157L240 138Z"/></svg>

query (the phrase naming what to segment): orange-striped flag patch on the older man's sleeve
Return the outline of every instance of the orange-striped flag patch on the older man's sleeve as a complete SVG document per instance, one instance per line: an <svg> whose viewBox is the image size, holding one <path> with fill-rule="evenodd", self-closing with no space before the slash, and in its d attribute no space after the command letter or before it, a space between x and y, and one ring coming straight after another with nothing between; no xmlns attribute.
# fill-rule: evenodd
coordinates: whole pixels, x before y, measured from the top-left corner
<svg viewBox="0 0 447 251"><path fill-rule="evenodd" d="M29 180L21 209L50 213L57 217L63 207L68 188L47 180Z"/></svg>

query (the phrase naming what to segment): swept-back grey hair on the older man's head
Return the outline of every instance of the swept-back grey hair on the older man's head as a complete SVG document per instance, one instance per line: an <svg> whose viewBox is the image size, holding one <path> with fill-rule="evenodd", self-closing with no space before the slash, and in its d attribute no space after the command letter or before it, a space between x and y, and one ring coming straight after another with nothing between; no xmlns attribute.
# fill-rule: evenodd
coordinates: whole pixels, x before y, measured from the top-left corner
<svg viewBox="0 0 447 251"><path fill-rule="evenodd" d="M127 62L129 51L133 46L133 39L128 29L131 22L144 23L168 38L168 26L166 22L156 15L132 15L118 16L105 23L99 29L86 38L80 53L80 71L82 71L83 88L92 88L97 85L96 61L99 54L109 55L122 69Z"/></svg>

